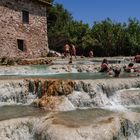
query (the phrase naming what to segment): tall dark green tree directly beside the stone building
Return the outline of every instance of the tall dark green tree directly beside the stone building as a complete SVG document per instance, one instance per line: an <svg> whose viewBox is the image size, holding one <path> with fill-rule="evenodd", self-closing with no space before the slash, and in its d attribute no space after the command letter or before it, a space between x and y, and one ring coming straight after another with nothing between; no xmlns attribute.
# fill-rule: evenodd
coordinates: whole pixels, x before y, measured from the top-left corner
<svg viewBox="0 0 140 140"><path fill-rule="evenodd" d="M61 51L62 46L69 38L69 24L71 14L63 5L55 4L48 10L48 38L49 48Z"/></svg>

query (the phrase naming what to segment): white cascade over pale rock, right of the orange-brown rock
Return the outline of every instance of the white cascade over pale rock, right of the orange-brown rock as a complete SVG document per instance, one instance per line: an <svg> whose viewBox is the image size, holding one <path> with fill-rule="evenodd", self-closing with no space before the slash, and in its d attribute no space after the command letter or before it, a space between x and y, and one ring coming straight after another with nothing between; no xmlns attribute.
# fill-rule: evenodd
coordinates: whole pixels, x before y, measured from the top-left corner
<svg viewBox="0 0 140 140"><path fill-rule="evenodd" d="M140 105L139 79L122 81L78 81L68 99L76 107L112 107L120 110L127 105ZM132 92L132 94L131 94Z"/></svg>

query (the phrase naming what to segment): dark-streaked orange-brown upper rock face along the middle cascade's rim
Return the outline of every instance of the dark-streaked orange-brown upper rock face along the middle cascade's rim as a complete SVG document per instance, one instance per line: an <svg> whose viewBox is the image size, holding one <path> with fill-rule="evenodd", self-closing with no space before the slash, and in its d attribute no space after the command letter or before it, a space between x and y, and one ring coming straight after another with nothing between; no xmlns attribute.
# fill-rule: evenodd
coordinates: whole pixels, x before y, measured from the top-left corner
<svg viewBox="0 0 140 140"><path fill-rule="evenodd" d="M62 96L69 95L74 90L75 82L72 80L57 80L57 79L33 79L29 81L29 91L42 96Z"/></svg>

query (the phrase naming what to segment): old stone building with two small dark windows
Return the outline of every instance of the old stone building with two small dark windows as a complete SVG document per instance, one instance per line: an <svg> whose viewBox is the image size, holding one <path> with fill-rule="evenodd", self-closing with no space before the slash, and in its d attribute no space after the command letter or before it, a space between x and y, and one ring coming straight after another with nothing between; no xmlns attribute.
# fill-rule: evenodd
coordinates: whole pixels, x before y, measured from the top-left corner
<svg viewBox="0 0 140 140"><path fill-rule="evenodd" d="M0 0L0 57L48 53L47 0Z"/></svg>

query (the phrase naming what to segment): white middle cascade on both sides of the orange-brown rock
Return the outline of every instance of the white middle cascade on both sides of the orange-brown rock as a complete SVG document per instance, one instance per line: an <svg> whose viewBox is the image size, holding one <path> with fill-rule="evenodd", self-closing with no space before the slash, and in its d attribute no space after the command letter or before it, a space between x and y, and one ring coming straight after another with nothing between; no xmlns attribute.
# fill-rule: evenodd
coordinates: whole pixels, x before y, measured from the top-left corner
<svg viewBox="0 0 140 140"><path fill-rule="evenodd" d="M118 80L116 84L112 81L113 79L75 81L74 91L66 98L75 107L140 104L139 79ZM106 84L107 82L108 84ZM44 83L45 80L3 80L0 82L0 102L29 104L34 99L42 97L45 92Z"/></svg>

